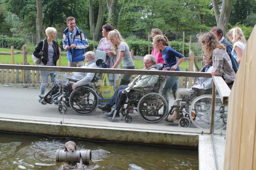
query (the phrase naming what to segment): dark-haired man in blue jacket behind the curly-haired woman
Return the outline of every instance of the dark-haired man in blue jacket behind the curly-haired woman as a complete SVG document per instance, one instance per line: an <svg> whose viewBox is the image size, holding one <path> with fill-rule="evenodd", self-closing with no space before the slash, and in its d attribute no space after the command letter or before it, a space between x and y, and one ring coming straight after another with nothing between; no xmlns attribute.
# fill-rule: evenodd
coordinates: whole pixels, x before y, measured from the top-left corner
<svg viewBox="0 0 256 170"><path fill-rule="evenodd" d="M232 68L233 70L237 71L239 64L237 63L236 59L231 55L233 46L230 44L230 42L228 42L224 37L223 37L223 31L222 29L220 29L219 27L213 27L210 30L212 33L214 33L217 37L217 39L219 40L220 43L224 44L226 46L226 51L230 57L230 60L232 62Z"/></svg>

